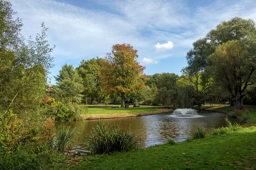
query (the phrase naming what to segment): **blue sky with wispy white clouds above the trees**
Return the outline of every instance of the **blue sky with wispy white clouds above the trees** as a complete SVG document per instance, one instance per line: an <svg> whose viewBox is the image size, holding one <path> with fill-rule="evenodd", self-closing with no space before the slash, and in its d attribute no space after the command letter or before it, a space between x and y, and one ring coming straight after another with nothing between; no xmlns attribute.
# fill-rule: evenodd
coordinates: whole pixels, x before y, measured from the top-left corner
<svg viewBox="0 0 256 170"><path fill-rule="evenodd" d="M175 73L186 67L186 53L222 21L242 17L256 21L255 0L9 0L22 18L25 38L49 28L56 45L51 78L65 63L78 67L105 57L115 44L138 50L145 74Z"/></svg>

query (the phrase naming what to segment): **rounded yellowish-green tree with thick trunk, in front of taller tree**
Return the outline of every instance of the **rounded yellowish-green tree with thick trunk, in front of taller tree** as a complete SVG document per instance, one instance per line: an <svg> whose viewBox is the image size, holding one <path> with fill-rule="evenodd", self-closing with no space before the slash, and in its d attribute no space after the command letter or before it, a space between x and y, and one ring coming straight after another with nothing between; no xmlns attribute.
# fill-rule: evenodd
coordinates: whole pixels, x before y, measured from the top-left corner
<svg viewBox="0 0 256 170"><path fill-rule="evenodd" d="M234 100L234 108L243 107L243 93L255 82L256 61L246 44L233 40L219 45L209 56L211 70L221 87L226 88Z"/></svg>

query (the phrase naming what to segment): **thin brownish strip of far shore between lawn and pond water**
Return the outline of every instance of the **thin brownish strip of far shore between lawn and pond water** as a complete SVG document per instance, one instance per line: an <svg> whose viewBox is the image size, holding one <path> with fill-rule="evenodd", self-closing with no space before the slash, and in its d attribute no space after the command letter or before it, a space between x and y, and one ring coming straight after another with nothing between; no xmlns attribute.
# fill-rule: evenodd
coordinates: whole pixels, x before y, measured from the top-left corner
<svg viewBox="0 0 256 170"><path fill-rule="evenodd" d="M84 116L84 120L92 120L92 119L114 119L114 118L124 118L124 117L135 117L135 116L147 116L161 113L169 113L172 112L172 109L159 109L160 111L154 112L143 112L143 113L116 113L116 114L91 114L91 117ZM118 116L116 116L118 114ZM126 114L126 115L125 115ZM119 116L120 115L120 116ZM124 115L124 116L121 116Z"/></svg>

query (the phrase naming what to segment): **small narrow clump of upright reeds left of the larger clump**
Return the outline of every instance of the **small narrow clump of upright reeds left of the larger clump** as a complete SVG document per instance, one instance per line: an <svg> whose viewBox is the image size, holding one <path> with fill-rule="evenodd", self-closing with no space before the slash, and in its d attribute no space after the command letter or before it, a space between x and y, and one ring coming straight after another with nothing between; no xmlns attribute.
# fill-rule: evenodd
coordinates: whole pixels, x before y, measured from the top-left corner
<svg viewBox="0 0 256 170"><path fill-rule="evenodd" d="M56 149L60 152L65 152L66 150L70 150L72 138L75 135L75 129L70 131L70 126L65 129L65 126L63 126L61 132L59 133L59 136L57 138L57 145Z"/></svg>

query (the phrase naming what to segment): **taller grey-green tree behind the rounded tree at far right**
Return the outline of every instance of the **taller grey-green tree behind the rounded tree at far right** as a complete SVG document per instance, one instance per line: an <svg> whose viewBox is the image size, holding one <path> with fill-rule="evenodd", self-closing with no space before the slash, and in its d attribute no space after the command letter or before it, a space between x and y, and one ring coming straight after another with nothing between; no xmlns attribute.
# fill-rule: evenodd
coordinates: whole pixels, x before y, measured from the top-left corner
<svg viewBox="0 0 256 170"><path fill-rule="evenodd" d="M197 48L193 48L192 57L187 57L188 67L192 70L192 73L197 73L198 70L206 71L208 66L213 64L209 62L207 58L215 52L215 48L218 45L222 45L223 43L227 43L232 40L239 40L244 43L244 48L250 53L250 62L255 62L254 57L256 54L256 26L253 20L244 20L239 17L234 17L229 21L222 22L216 29L209 31L209 33L203 39L196 41L194 44L197 44ZM193 45L194 45L193 44ZM231 44L230 44L231 45ZM231 47L230 47L231 48ZM241 51L240 51L241 52ZM190 53L188 53L190 54ZM194 55L195 54L195 55ZM200 54L200 55L196 55ZM239 54L239 52L237 53ZM196 57L198 56L198 57ZM233 68L230 68L233 69ZM209 68L209 72L212 70ZM213 70L216 71L216 70ZM230 70L232 72L232 70ZM253 68L251 68L252 74L254 72ZM208 73L209 73L208 72ZM195 74L192 74L195 75ZM252 76L252 75L251 75ZM250 77L251 77L250 76ZM216 76L213 76L216 78ZM250 78L249 78L250 79ZM215 81L219 81L219 79L215 79ZM206 81L207 82L207 81ZM244 83L246 83L245 81ZM216 82L218 83L218 82ZM247 82L248 84L253 82ZM245 85L245 84L244 84ZM221 91L228 91L232 98L234 105L238 108L242 107L242 100L237 100L234 98L234 95L231 94L230 90L224 86L220 86L222 88ZM245 89L247 85L244 86ZM244 91L243 91L244 92ZM241 95L243 95L243 92ZM237 103L240 101L240 104ZM236 103L236 104L235 104Z"/></svg>

